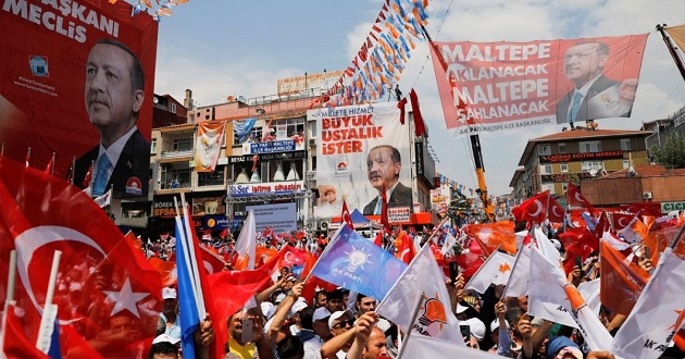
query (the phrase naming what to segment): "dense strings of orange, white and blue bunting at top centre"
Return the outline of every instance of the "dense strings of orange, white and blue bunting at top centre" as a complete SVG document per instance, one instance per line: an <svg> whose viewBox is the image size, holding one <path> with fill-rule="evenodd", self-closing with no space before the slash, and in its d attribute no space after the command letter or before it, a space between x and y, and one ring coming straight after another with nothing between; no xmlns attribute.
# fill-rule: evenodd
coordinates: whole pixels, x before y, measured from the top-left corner
<svg viewBox="0 0 685 359"><path fill-rule="evenodd" d="M428 0L386 0L357 52L352 64L311 107L368 103L383 98L400 75L415 49L424 40Z"/></svg>

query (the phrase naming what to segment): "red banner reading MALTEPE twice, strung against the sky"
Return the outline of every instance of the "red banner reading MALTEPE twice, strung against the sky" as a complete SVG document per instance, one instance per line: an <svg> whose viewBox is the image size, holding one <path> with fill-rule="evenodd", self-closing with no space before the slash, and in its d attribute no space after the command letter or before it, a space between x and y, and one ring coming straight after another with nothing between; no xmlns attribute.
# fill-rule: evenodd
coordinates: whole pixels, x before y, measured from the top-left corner
<svg viewBox="0 0 685 359"><path fill-rule="evenodd" d="M452 137L631 114L647 34L531 42L434 42Z"/></svg>

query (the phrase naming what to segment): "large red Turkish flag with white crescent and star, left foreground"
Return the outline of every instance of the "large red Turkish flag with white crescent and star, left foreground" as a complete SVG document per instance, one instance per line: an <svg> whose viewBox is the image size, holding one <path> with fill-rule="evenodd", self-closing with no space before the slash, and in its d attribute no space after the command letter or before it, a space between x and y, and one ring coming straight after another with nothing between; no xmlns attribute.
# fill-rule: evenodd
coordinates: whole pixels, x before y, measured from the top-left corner
<svg viewBox="0 0 685 359"><path fill-rule="evenodd" d="M62 356L148 352L162 307L159 273L88 195L5 158L0 160L0 281L7 278L11 249L17 252L15 298L29 343L36 343L51 259L61 250L53 304Z"/></svg>

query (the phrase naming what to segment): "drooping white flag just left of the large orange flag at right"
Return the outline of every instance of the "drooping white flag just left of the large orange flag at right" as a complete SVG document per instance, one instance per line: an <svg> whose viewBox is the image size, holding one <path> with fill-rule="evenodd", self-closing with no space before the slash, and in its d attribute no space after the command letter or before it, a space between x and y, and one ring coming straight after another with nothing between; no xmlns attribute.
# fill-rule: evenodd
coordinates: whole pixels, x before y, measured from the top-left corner
<svg viewBox="0 0 685 359"><path fill-rule="evenodd" d="M540 317L551 322L566 326L578 327L571 317L571 304L566 298L564 286L565 275L559 263L552 263L533 248L531 252L531 276L528 283L528 312L533 317Z"/></svg>

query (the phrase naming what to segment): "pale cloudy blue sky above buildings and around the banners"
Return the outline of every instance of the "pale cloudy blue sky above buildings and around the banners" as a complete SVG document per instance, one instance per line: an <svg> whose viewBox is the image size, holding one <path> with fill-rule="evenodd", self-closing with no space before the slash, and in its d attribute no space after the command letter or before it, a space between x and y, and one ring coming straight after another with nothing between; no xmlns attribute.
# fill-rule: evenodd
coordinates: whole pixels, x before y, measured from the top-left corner
<svg viewBox="0 0 685 359"><path fill-rule="evenodd" d="M190 0L160 23L155 94L183 102L191 89L197 106L227 96L275 95L277 79L344 70L371 30L381 0ZM656 30L685 23L683 0L431 0L427 32L438 41L531 41L650 34L630 119L598 121L599 128L639 129L685 106L685 81ZM681 52L682 53L682 52ZM446 131L426 41L419 41L399 82L421 102L436 170L477 188L468 137ZM562 125L482 134L489 194L511 193L509 183L531 138Z"/></svg>

